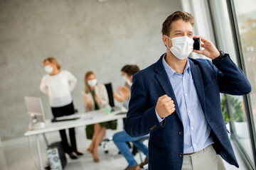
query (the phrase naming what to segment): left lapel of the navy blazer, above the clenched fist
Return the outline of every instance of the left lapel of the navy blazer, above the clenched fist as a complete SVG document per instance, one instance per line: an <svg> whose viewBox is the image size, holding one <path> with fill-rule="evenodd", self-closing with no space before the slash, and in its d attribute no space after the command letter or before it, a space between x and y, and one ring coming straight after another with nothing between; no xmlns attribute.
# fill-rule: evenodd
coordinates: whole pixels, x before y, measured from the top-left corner
<svg viewBox="0 0 256 170"><path fill-rule="evenodd" d="M164 92L167 96L171 97L171 99L174 101L175 105L175 112L178 115L178 118L181 120L181 113L178 110L178 103L176 101L176 96L174 94L174 89L171 86L171 83L169 81L169 77L167 76L167 73L164 69L164 65L162 63L164 55L161 56L158 62L156 62L155 72L156 72L156 79L159 81L159 84L164 89ZM182 122L182 120L181 120Z"/></svg>

